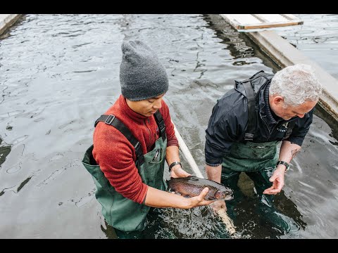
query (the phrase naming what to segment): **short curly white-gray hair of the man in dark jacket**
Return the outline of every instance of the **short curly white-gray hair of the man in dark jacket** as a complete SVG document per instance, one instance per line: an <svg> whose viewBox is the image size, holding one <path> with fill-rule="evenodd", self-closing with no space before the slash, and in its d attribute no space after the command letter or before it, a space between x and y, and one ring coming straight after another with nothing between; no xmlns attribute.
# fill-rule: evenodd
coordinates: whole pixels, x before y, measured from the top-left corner
<svg viewBox="0 0 338 253"><path fill-rule="evenodd" d="M278 71L270 84L270 95L278 94L286 105L298 106L306 101L315 101L323 86L310 65L296 64Z"/></svg>

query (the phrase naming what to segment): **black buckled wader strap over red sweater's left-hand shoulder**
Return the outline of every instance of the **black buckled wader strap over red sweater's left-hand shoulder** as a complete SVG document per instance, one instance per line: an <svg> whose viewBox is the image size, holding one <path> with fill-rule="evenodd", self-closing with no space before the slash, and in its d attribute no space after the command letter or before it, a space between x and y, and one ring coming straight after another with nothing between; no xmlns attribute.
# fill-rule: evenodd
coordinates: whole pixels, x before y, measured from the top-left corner
<svg viewBox="0 0 338 253"><path fill-rule="evenodd" d="M139 165L142 165L144 163L144 156L142 153L141 144L139 143L139 141L137 141L137 138L132 135L132 132L127 128L127 126L125 126L125 124L120 122L120 120L117 119L114 115L101 115L99 119L96 119L94 126L96 126L96 124L99 122L104 122L118 129L118 131L120 131L125 136L125 138L127 138L127 140L130 141L130 143L132 143L132 145L134 146L136 162L138 162Z"/></svg>

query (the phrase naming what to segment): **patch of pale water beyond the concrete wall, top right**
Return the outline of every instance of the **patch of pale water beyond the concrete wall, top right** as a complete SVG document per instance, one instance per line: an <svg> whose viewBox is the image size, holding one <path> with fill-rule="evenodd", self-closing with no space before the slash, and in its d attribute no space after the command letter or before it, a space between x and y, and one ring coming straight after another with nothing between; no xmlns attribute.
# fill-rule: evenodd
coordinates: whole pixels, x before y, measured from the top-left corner
<svg viewBox="0 0 338 253"><path fill-rule="evenodd" d="M296 46L305 56L311 58L338 79L338 15L296 14L303 25L281 27L276 30L284 39Z"/></svg>

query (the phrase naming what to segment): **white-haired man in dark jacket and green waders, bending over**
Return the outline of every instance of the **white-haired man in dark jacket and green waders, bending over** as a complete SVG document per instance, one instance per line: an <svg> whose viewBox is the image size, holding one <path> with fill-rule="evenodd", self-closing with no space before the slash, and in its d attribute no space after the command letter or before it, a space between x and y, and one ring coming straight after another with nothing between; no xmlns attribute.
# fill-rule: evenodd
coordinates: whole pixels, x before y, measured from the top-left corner
<svg viewBox="0 0 338 253"><path fill-rule="evenodd" d="M218 100L206 129L206 174L234 189L228 207L239 196L241 172L253 180L261 200L272 201L280 193L284 173L301 149L321 91L311 66L297 64L276 74L260 71L235 81L234 89ZM225 202L212 205L219 209Z"/></svg>

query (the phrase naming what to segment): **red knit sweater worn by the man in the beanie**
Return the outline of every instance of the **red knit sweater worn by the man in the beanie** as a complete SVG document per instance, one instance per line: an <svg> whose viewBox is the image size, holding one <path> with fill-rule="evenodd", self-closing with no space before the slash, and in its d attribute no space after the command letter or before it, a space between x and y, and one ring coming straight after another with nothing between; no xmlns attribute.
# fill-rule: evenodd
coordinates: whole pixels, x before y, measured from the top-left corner
<svg viewBox="0 0 338 253"><path fill-rule="evenodd" d="M177 145L174 125L171 122L168 105L162 100L161 115L165 122L167 147ZM132 131L132 134L142 145L144 154L151 151L159 137L158 126L154 119L139 115L129 108L125 98L120 95L115 104L105 115L115 115ZM118 193L134 202L142 204L146 197L148 186L142 182L137 167L136 155L132 144L114 126L99 122L94 130L93 156L104 175Z"/></svg>

